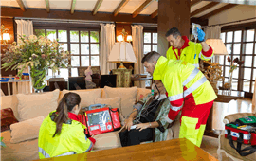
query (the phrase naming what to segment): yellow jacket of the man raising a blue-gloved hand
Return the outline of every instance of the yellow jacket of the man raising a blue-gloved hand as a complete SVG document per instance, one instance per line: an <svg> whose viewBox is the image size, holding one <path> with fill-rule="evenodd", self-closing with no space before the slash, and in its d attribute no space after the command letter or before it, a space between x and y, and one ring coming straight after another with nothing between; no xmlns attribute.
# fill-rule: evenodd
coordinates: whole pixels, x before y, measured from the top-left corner
<svg viewBox="0 0 256 161"><path fill-rule="evenodd" d="M194 43L189 41L188 42L189 46L185 47L182 49L180 56L178 56L178 59L175 54L178 54L178 49L174 49L173 47L169 47L169 49L166 52L166 58L168 60L183 60L188 63L192 63L195 67L199 67L198 64L198 58L202 60L210 60L211 57L213 56L213 52L209 57L206 57L202 54L202 45L200 43ZM175 53L174 53L175 52ZM194 58L194 54L196 53L196 56Z"/></svg>

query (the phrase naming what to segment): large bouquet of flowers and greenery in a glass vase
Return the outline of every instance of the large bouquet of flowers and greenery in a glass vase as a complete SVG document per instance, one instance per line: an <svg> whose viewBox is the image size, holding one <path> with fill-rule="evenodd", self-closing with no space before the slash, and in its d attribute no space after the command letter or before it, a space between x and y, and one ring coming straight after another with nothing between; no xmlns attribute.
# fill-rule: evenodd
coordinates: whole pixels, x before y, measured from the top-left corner
<svg viewBox="0 0 256 161"><path fill-rule="evenodd" d="M51 68L55 73L59 68L67 68L70 60L68 51L64 51L56 40L51 41L44 36L31 35L28 39L22 36L19 44L14 42L5 51L2 68L19 69L18 77L28 66L33 88L42 90L46 84L46 70Z"/></svg>

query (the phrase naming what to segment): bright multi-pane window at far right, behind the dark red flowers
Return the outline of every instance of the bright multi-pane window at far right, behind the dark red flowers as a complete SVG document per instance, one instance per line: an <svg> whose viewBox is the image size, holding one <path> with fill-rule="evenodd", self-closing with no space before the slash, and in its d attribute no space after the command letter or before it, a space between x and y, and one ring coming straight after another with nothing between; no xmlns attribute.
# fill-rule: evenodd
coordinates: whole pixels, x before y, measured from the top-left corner
<svg viewBox="0 0 256 161"><path fill-rule="evenodd" d="M253 84L256 77L256 42L255 29L231 30L221 33L221 39L227 47L231 60L239 58L244 61L233 71L232 90L253 92ZM229 79L230 63L228 56L220 56L219 63L223 66L225 81Z"/></svg>

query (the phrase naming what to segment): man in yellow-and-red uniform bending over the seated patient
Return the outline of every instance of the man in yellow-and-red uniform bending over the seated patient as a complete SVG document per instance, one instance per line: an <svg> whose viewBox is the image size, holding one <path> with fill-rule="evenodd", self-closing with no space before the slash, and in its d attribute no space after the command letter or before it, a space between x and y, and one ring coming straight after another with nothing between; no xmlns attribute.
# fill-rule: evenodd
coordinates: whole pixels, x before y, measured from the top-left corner
<svg viewBox="0 0 256 161"><path fill-rule="evenodd" d="M152 51L142 59L155 81L162 80L171 109L166 120L172 123L181 112L179 138L200 147L213 100L217 98L210 82L199 69L183 60L168 60Z"/></svg>

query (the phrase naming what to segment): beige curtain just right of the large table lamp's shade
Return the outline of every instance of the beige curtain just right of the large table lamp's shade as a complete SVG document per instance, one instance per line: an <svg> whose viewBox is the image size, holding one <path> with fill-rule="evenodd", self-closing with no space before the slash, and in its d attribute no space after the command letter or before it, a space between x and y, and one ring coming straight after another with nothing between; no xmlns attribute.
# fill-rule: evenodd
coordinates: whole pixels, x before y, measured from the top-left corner
<svg viewBox="0 0 256 161"><path fill-rule="evenodd" d="M132 38L133 38L133 48L136 55L137 63L135 63L135 74L143 74L144 67L141 63L143 58L143 26L134 25L132 26ZM135 85L140 88L145 88L145 81L137 81Z"/></svg>

